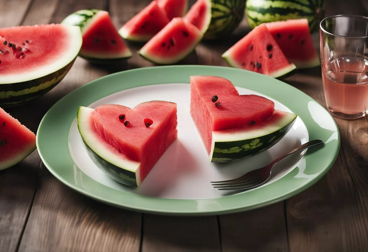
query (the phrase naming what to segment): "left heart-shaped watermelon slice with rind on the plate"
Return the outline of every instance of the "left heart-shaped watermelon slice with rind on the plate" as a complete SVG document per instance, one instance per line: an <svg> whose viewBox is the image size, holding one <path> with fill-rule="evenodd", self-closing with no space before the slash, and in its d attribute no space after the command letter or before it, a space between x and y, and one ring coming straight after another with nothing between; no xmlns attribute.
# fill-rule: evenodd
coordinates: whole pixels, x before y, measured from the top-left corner
<svg viewBox="0 0 368 252"><path fill-rule="evenodd" d="M176 104L144 102L79 107L77 123L86 150L96 165L116 181L139 186L177 138Z"/></svg>

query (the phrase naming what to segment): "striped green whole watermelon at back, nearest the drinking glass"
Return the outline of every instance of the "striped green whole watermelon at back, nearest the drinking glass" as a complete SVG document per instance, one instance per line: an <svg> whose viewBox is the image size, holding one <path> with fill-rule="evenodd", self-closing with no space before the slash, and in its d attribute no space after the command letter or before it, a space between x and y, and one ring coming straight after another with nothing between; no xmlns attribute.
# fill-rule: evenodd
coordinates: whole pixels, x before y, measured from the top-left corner
<svg viewBox="0 0 368 252"><path fill-rule="evenodd" d="M247 0L246 15L251 29L266 22L307 18L316 31L325 15L324 0Z"/></svg>

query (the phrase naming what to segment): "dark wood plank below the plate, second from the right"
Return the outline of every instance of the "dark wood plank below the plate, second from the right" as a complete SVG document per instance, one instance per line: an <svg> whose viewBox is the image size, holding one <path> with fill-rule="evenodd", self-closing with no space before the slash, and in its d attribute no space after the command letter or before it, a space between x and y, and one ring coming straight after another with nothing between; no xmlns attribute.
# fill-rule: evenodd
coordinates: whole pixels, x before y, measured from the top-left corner
<svg viewBox="0 0 368 252"><path fill-rule="evenodd" d="M287 251L284 203L220 216L223 252Z"/></svg>

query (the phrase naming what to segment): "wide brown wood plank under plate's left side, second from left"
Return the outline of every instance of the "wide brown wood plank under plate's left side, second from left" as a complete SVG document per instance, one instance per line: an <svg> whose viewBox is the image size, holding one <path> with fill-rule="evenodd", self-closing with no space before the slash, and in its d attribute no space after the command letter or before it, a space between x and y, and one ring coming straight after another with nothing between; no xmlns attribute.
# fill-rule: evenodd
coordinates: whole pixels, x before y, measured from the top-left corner
<svg viewBox="0 0 368 252"><path fill-rule="evenodd" d="M48 3L49 4L49 3ZM41 4L44 7L44 5ZM82 8L105 9L106 1L60 1L50 22L60 22ZM38 22L36 13L30 13ZM78 57L67 76L53 90L28 106L37 125L45 112L66 94L113 72ZM44 167L19 251L138 251L141 214L98 203L60 183Z"/></svg>

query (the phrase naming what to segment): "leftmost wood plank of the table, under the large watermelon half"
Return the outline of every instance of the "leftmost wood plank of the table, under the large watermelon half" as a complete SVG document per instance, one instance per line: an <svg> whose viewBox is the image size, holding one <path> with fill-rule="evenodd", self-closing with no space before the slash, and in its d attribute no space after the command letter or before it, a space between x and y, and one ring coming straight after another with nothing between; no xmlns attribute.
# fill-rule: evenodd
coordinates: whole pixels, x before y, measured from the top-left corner
<svg viewBox="0 0 368 252"><path fill-rule="evenodd" d="M57 0L48 1L47 5L40 0L0 1L0 27L35 24L33 13L48 22L56 3ZM32 106L22 106L6 111L36 132L41 116L29 116L34 115L33 109ZM0 251L17 251L32 207L39 173L37 150L14 167L0 171Z"/></svg>

